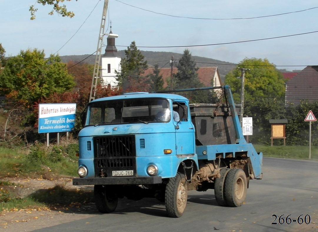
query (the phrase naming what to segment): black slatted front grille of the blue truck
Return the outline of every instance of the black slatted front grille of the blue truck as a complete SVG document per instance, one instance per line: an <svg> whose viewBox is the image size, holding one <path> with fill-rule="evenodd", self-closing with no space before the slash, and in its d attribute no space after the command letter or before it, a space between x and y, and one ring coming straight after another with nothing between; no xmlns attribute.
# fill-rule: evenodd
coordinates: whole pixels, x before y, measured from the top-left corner
<svg viewBox="0 0 318 232"><path fill-rule="evenodd" d="M95 177L100 173L111 176L112 171L133 170L136 173L135 136L104 136L94 138Z"/></svg>

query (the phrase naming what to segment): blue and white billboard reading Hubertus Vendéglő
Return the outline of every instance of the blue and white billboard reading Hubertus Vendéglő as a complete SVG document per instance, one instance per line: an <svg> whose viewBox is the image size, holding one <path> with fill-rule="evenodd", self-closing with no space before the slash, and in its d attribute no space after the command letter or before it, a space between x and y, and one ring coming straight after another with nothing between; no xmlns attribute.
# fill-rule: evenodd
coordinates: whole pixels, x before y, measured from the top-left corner
<svg viewBox="0 0 318 232"><path fill-rule="evenodd" d="M39 104L39 133L67 132L74 128L76 104Z"/></svg>

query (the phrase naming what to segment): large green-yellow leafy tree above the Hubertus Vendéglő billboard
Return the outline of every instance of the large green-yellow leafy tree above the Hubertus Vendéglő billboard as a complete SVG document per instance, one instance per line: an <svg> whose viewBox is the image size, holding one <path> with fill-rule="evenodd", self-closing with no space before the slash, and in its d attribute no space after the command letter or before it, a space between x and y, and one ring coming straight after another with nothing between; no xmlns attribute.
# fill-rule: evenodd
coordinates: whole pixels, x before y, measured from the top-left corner
<svg viewBox="0 0 318 232"><path fill-rule="evenodd" d="M53 93L64 93L74 85L73 76L67 73L59 55L45 59L44 51L38 49L21 50L17 56L9 57L0 74L0 94L24 107Z"/></svg>

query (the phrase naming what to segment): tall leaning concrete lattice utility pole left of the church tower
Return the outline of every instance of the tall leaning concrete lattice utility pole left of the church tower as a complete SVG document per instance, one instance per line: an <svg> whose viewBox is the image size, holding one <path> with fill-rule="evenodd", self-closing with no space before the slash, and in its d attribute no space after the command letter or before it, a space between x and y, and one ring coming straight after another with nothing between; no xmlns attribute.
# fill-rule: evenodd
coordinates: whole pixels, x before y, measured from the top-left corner
<svg viewBox="0 0 318 232"><path fill-rule="evenodd" d="M93 80L92 80L89 101L95 100L95 96L96 96L96 87L97 87L97 83L98 83L97 78L98 78L98 72L99 72L99 67L100 67L101 47L103 45L103 38L104 38L104 34L105 34L105 22L106 22L107 6L108 6L108 0L105 0L104 9L103 9L103 16L101 17L101 22L100 22L100 34L98 36L96 58L95 58L95 65L94 65L94 72L93 72Z"/></svg>

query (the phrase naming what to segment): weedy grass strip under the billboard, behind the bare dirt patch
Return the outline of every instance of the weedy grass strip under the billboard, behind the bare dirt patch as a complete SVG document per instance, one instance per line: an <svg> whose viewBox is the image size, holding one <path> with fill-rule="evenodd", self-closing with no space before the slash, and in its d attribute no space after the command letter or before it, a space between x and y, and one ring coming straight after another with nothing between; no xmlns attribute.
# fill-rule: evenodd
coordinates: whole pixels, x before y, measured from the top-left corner
<svg viewBox="0 0 318 232"><path fill-rule="evenodd" d="M31 177L48 180L77 176L76 143L31 149L0 147L0 177Z"/></svg>

